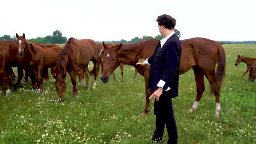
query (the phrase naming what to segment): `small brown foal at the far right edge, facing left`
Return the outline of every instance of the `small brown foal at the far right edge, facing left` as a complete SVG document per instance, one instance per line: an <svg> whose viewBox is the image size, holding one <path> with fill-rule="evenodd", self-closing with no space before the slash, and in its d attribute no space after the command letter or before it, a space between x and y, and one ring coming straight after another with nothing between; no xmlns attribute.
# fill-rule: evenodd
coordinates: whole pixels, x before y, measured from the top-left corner
<svg viewBox="0 0 256 144"><path fill-rule="evenodd" d="M253 65L253 63L256 62L256 58L237 55L235 65L237 66L241 62L244 62L247 66L245 73L243 73L243 75L241 76L241 79L242 79L243 76L245 76L248 73L248 71L249 71L250 67Z"/></svg>

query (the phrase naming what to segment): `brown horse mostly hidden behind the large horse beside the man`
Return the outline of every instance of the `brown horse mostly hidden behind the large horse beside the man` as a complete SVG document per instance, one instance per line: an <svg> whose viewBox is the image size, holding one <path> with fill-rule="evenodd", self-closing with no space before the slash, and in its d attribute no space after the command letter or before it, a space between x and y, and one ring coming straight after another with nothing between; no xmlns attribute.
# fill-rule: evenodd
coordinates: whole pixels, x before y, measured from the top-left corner
<svg viewBox="0 0 256 144"><path fill-rule="evenodd" d="M100 46L101 48L102 48L102 50L101 50L101 53L100 53L100 59L102 59L103 60L103 62L104 62L104 59L103 59L103 56L104 56L104 52L105 52L105 49L104 49L104 47L103 47L103 44L102 43L97 43L98 44L98 46ZM117 44L105 44L105 45L107 45L107 46L114 46L114 45L120 45L120 43L117 43ZM103 63L102 62L102 63ZM122 81L125 81L125 79L124 79L124 63L118 63L119 64L119 66L120 66L120 70L121 70L121 75L122 75ZM101 67L102 69L103 69L103 64L102 64L102 67ZM102 69L101 69L101 74L102 74ZM114 77L114 80L116 81L117 80L117 78L115 77L115 73L114 73L114 71L113 71L113 77ZM138 72L137 72L137 70L136 70L136 68L135 68L135 75L134 75L134 79L136 79L137 78L137 74L138 74Z"/></svg>

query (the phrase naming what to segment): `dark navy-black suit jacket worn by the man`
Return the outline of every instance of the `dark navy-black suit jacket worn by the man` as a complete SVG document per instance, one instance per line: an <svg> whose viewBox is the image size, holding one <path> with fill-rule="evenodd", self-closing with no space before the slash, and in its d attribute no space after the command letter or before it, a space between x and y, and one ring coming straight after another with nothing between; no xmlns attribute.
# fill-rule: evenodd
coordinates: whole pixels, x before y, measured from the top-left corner
<svg viewBox="0 0 256 144"><path fill-rule="evenodd" d="M160 45L160 42L158 46ZM156 46L156 49L158 48ZM155 52L156 52L155 49ZM158 77L161 77L160 80L165 81L164 89L166 90L168 87L171 89L163 92L166 93L167 95L170 95L170 97L177 97L178 95L178 83L179 83L179 62L181 60L181 41L179 40L178 36L176 34L173 34L162 46L161 49L164 49L164 58L163 62L161 64L162 70L159 71ZM148 58L148 62L150 64L153 64L153 59L154 59L154 54ZM149 83L148 86L151 87L150 83L150 77L152 76L152 67L150 67L150 72L149 72ZM158 81L158 82L159 82ZM152 87L151 87L152 88ZM152 88L152 92L157 89L158 87Z"/></svg>

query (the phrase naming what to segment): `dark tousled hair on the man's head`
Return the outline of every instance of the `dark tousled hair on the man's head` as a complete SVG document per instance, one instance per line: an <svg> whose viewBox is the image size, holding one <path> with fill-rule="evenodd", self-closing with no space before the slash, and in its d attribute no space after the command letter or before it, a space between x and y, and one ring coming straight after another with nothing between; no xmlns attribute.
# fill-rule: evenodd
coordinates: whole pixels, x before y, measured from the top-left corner
<svg viewBox="0 0 256 144"><path fill-rule="evenodd" d="M156 19L159 26L165 26L168 29L174 29L176 25L176 20L171 17L170 15L160 15L158 16L158 19Z"/></svg>

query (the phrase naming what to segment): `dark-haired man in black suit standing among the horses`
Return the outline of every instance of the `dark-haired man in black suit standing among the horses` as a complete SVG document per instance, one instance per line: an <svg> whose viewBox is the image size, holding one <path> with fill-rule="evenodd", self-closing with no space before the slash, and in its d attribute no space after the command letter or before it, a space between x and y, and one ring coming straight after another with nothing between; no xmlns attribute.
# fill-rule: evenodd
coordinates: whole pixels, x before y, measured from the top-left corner
<svg viewBox="0 0 256 144"><path fill-rule="evenodd" d="M137 64L150 65L149 83L154 100L156 128L153 142L161 142L166 124L167 143L177 143L178 134L172 109L172 98L178 95L179 62L181 59L181 41L174 32L176 20L170 15L160 15L156 19L162 37L154 54L146 61Z"/></svg>

